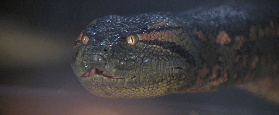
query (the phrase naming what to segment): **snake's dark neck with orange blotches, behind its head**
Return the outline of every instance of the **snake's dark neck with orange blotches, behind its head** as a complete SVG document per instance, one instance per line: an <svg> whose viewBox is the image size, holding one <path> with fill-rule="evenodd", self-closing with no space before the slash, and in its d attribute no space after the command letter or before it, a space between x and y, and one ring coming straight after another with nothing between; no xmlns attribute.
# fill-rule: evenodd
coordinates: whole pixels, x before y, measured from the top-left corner
<svg viewBox="0 0 279 115"><path fill-rule="evenodd" d="M278 79L278 16L254 12L220 6L177 14L189 30L197 66L190 69L193 79L174 92L216 91Z"/></svg>

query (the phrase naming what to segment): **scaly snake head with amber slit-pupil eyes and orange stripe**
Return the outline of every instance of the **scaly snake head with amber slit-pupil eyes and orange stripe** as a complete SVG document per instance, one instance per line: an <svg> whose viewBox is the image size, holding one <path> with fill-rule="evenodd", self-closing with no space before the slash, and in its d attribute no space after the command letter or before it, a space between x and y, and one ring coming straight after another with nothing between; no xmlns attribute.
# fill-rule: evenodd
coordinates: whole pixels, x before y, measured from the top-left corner
<svg viewBox="0 0 279 115"><path fill-rule="evenodd" d="M76 40L72 68L81 84L106 98L153 98L178 89L194 65L189 37L168 13L109 15Z"/></svg>

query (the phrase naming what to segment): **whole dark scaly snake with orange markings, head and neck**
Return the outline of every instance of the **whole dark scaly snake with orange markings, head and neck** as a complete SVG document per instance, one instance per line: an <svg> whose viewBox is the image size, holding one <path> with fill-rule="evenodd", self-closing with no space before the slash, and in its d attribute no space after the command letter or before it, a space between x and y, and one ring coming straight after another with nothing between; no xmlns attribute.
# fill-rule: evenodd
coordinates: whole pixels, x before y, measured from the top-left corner
<svg viewBox="0 0 279 115"><path fill-rule="evenodd" d="M72 69L87 91L115 99L267 86L279 76L274 12L218 5L100 17L78 36Z"/></svg>

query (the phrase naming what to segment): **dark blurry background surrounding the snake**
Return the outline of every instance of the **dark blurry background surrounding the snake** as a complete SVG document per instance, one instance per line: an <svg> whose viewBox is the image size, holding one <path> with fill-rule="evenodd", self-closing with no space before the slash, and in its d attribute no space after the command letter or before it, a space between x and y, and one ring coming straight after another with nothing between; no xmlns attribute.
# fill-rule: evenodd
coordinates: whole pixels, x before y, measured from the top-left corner
<svg viewBox="0 0 279 115"><path fill-rule="evenodd" d="M184 11L228 1L0 1L0 114L278 115L279 106L230 88L113 100L87 92L72 71L73 45L94 19L109 14ZM265 5L277 1L233 1Z"/></svg>

